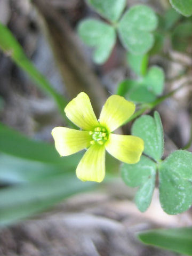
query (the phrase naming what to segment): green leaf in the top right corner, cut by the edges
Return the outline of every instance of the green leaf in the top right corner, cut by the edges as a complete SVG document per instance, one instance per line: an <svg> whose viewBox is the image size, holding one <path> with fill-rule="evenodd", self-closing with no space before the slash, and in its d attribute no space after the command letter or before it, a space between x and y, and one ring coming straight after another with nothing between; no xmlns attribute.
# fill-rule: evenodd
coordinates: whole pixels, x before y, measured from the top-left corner
<svg viewBox="0 0 192 256"><path fill-rule="evenodd" d="M170 0L170 4L182 15L186 17L192 15L192 0Z"/></svg>

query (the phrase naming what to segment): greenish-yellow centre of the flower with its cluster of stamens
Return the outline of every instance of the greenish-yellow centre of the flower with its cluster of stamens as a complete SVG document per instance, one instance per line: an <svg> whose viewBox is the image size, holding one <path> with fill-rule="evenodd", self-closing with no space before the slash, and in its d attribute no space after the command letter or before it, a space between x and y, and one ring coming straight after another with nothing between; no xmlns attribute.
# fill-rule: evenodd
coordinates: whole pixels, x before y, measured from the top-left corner
<svg viewBox="0 0 192 256"><path fill-rule="evenodd" d="M108 132L104 127L96 127L94 131L89 132L92 135L92 140L90 141L91 145L98 143L103 145L108 140Z"/></svg>

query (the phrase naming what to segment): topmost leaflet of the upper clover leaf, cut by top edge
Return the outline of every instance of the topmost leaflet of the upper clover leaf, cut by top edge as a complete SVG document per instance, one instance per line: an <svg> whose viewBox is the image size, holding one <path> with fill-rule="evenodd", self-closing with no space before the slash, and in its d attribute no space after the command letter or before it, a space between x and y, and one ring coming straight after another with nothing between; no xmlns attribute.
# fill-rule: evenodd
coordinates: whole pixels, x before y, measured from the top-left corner
<svg viewBox="0 0 192 256"><path fill-rule="evenodd" d="M121 16L126 0L87 0L95 11L99 12L106 19L115 22Z"/></svg>

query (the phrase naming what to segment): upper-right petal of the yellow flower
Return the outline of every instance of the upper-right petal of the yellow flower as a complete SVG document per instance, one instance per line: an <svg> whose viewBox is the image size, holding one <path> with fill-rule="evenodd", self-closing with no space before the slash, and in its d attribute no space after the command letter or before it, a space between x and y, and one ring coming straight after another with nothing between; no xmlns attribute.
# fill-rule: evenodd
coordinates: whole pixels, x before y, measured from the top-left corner
<svg viewBox="0 0 192 256"><path fill-rule="evenodd" d="M119 95L110 96L101 110L99 123L109 132L113 132L129 119L135 110L133 102Z"/></svg>

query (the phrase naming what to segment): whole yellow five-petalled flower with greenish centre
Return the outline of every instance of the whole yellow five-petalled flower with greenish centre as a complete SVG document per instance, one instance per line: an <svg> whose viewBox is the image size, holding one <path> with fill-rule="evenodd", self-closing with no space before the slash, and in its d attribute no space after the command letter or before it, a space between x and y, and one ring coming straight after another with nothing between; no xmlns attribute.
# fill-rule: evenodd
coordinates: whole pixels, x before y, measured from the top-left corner
<svg viewBox="0 0 192 256"><path fill-rule="evenodd" d="M82 130L55 127L52 135L61 156L88 148L79 162L76 174L83 181L101 182L105 177L105 150L122 162L139 162L143 140L131 135L112 133L129 119L135 110L132 102L118 95L110 96L95 117L88 95L81 92L65 108L66 116Z"/></svg>

